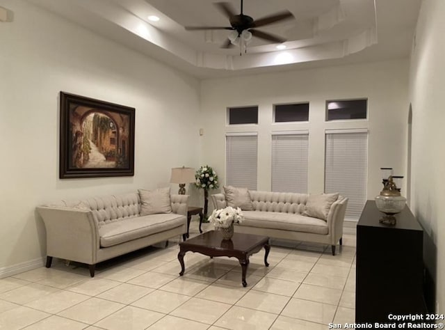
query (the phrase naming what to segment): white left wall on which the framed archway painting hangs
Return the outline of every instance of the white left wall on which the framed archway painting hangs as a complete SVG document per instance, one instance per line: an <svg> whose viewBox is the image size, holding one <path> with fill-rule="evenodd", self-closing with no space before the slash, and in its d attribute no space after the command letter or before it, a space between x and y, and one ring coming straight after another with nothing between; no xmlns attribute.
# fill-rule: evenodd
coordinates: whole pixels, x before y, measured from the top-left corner
<svg viewBox="0 0 445 330"><path fill-rule="evenodd" d="M21 0L0 0L0 275L44 256L35 206L156 188L170 168L197 168L200 84ZM58 179L58 93L136 108L135 175ZM172 185L172 190L177 185Z"/></svg>

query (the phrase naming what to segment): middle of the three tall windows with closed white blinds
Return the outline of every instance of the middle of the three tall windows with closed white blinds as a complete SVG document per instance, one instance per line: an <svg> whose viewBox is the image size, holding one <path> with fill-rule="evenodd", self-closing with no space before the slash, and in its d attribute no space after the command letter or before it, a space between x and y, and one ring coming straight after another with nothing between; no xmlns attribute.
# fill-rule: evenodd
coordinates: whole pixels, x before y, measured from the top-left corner
<svg viewBox="0 0 445 330"><path fill-rule="evenodd" d="M272 191L307 193L309 134L272 135Z"/></svg>

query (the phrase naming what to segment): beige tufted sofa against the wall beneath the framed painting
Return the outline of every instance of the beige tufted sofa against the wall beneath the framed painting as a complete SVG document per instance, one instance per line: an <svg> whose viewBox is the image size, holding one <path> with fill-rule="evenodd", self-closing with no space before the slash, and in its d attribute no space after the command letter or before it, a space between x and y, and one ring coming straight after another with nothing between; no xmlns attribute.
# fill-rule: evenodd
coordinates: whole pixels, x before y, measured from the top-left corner
<svg viewBox="0 0 445 330"><path fill-rule="evenodd" d="M62 258L89 265L187 232L187 195L171 195L172 212L140 215L138 192L39 206L47 230L47 263Z"/></svg>

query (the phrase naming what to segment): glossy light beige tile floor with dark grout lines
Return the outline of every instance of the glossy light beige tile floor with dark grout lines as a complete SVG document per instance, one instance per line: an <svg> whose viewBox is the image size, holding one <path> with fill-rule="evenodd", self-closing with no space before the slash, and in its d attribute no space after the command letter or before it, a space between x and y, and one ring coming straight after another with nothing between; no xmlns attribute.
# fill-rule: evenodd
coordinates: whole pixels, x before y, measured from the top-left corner
<svg viewBox="0 0 445 330"><path fill-rule="evenodd" d="M204 230L209 228L204 224ZM197 235L191 223L191 236ZM354 322L355 235L343 246L273 240L250 257L247 282L234 258L186 253L177 241L97 265L54 260L0 279L0 329L327 329Z"/></svg>

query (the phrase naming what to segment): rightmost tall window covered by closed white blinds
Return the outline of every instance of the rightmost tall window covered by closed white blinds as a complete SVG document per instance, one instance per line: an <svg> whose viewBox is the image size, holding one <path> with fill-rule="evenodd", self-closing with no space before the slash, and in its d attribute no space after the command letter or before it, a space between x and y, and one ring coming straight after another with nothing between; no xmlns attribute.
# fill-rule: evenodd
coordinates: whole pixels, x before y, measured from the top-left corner
<svg viewBox="0 0 445 330"><path fill-rule="evenodd" d="M325 192L349 198L346 219L358 220L366 203L368 133L326 132Z"/></svg>

